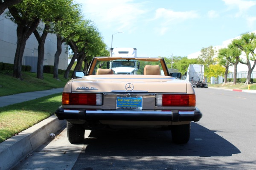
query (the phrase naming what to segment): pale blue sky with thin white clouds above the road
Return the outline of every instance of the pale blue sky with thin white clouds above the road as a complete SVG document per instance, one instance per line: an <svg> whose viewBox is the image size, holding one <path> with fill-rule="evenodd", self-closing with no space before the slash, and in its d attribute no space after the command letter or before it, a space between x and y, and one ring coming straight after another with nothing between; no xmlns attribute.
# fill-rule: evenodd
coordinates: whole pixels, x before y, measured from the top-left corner
<svg viewBox="0 0 256 170"><path fill-rule="evenodd" d="M108 48L137 48L137 57L184 57L256 30L256 0L75 2Z"/></svg>

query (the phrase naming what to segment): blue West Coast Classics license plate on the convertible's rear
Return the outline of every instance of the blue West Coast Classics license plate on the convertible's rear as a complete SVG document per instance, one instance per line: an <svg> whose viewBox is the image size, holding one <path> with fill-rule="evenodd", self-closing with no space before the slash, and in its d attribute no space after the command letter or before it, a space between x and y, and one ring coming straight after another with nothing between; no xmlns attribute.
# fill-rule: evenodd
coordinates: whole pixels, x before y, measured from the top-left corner
<svg viewBox="0 0 256 170"><path fill-rule="evenodd" d="M142 96L116 96L116 109L142 110Z"/></svg>

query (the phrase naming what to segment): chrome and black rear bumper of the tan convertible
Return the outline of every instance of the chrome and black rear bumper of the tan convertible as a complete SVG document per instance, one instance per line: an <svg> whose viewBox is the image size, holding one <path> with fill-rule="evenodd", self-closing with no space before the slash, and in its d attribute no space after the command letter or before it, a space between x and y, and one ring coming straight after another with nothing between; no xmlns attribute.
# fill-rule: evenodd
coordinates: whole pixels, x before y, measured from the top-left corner
<svg viewBox="0 0 256 170"><path fill-rule="evenodd" d="M203 114L194 111L120 111L120 110L65 110L55 111L58 119L63 120L130 120L130 121L193 121L198 122Z"/></svg>

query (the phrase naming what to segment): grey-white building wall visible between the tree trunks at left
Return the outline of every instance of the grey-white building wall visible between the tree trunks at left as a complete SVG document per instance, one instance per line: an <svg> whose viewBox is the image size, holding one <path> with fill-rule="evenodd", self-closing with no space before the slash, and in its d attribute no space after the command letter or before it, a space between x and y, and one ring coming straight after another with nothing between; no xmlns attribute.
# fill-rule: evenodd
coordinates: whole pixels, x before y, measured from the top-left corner
<svg viewBox="0 0 256 170"><path fill-rule="evenodd" d="M5 18L5 14L0 15L0 62L14 63L15 51L17 47L17 25ZM44 65L54 65L54 54L57 51L57 38L55 34L48 34L45 42ZM59 59L58 68L65 70L68 65L68 55L65 54L66 46L62 44L62 52ZM34 34L31 34L26 42L23 54L22 65L31 65L32 72L36 72L38 59L38 41Z"/></svg>

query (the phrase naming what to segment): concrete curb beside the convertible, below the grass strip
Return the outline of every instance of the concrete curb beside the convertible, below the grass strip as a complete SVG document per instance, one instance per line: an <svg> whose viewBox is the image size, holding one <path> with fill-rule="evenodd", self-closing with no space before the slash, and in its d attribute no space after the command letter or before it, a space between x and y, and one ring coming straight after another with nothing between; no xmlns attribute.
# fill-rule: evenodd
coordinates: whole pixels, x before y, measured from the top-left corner
<svg viewBox="0 0 256 170"><path fill-rule="evenodd" d="M14 167L29 153L44 144L50 138L50 133L58 132L65 125L66 120L58 120L56 116L50 116L0 143L0 170L9 170Z"/></svg>

